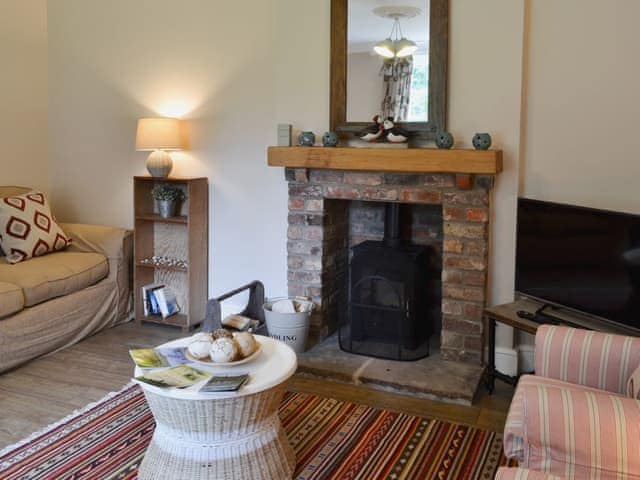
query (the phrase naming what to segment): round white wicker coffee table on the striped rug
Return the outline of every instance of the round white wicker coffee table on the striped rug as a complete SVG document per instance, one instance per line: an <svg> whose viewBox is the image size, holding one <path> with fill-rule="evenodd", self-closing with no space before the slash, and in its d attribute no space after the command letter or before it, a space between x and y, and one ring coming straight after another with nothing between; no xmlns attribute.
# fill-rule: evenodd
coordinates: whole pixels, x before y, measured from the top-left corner
<svg viewBox="0 0 640 480"><path fill-rule="evenodd" d="M205 367L221 375L248 373L238 392L198 393L140 384L156 421L140 479L237 480L291 478L295 455L278 417L284 382L296 370L293 350L256 335L262 352L234 367ZM180 339L163 347L186 346ZM136 368L135 375L143 372Z"/></svg>

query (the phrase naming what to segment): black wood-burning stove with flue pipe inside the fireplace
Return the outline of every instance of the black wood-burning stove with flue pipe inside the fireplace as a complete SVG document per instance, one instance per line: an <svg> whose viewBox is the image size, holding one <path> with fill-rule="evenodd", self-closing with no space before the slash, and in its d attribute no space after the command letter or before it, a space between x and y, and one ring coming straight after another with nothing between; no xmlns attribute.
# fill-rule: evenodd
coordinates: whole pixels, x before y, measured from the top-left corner
<svg viewBox="0 0 640 480"><path fill-rule="evenodd" d="M429 265L433 249L400 236L401 204L388 203L382 241L351 248L348 299L339 328L347 352L416 360L429 354Z"/></svg>

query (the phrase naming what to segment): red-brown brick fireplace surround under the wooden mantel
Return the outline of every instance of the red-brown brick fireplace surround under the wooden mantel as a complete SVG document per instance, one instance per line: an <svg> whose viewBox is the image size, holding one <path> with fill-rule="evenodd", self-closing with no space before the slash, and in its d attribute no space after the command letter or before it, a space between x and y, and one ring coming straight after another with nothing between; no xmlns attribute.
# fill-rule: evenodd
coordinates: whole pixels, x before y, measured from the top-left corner
<svg viewBox="0 0 640 480"><path fill-rule="evenodd" d="M443 223L440 352L447 360L481 360L493 175L476 175L463 188L456 186L456 175L446 173L286 168L285 178L289 294L311 296L319 305L312 338L322 340L336 330L346 295L347 202L437 205Z"/></svg>

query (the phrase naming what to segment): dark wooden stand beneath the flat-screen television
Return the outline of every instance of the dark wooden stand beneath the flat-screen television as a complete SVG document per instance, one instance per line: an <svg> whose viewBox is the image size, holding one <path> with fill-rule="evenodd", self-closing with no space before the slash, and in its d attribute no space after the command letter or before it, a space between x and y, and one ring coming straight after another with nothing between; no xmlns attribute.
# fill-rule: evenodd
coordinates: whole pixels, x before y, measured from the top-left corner
<svg viewBox="0 0 640 480"><path fill-rule="evenodd" d="M553 313L550 313L550 310ZM638 336L637 331L630 331L622 325L613 325L592 318L583 318L555 305L542 304L528 298L485 308L484 320L485 332L487 332L489 343L486 388L490 394L493 393L495 388L496 378L510 385L518 383L519 378L519 375L506 375L496 370L496 324L498 322L531 335L536 334L540 325L552 324L619 335Z"/></svg>

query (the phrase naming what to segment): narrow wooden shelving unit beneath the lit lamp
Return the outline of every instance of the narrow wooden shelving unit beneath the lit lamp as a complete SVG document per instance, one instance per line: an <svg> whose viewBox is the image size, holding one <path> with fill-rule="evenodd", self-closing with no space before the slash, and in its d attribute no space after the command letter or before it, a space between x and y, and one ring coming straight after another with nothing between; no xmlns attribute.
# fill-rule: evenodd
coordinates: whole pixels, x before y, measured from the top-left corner
<svg viewBox="0 0 640 480"><path fill-rule="evenodd" d="M162 218L158 215L151 189L159 184L173 184L187 196L179 215ZM206 178L134 177L133 201L135 221L134 241L134 301L136 322L152 322L181 327L188 331L199 325L205 316L208 295L209 266L209 186ZM153 256L185 260L187 266L144 263ZM145 316L142 287L164 283L178 297L181 312L162 319Z"/></svg>

